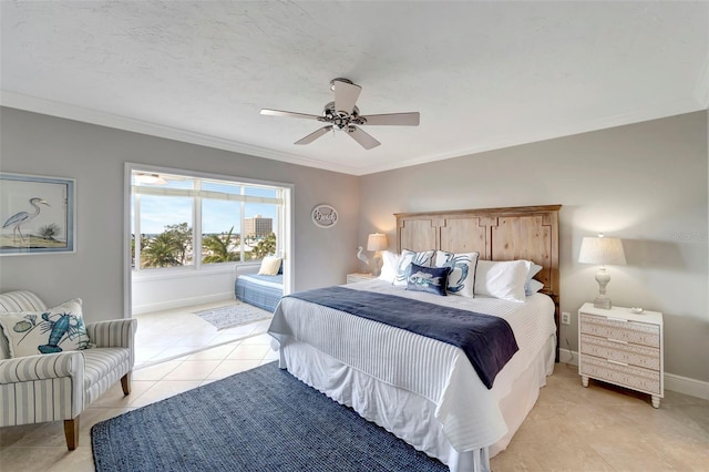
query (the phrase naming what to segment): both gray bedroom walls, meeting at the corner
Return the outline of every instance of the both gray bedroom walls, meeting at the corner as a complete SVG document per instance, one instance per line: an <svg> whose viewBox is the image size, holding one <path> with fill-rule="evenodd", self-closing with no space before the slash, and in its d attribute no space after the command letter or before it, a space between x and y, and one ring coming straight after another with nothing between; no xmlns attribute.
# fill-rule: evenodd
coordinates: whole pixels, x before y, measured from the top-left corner
<svg viewBox="0 0 709 472"><path fill-rule="evenodd" d="M0 120L0 171L76 178L79 248L0 258L0 290L82 297L90 321L122 316L125 162L295 184L296 290L363 269L356 247L393 236L397 212L562 204L562 347L576 350L576 310L597 293L580 238L604 232L628 258L609 268L615 305L662 311L666 371L709 381L707 112L363 177L7 107ZM319 203L340 212L333 228L310 222Z"/></svg>

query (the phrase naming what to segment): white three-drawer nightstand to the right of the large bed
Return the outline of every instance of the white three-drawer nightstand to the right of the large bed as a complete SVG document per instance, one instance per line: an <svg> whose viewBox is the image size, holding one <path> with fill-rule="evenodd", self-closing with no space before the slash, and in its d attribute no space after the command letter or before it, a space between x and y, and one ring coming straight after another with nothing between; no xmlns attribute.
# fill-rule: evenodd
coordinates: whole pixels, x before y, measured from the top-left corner
<svg viewBox="0 0 709 472"><path fill-rule="evenodd" d="M578 309L578 373L588 379L649 393L660 407L664 386L662 314L631 314L584 304Z"/></svg>

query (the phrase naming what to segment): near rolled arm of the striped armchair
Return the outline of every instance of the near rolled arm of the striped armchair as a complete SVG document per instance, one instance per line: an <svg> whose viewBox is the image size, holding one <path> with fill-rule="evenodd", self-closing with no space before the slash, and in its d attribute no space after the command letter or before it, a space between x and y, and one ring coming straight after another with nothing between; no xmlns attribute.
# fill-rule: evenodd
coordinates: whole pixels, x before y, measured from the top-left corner
<svg viewBox="0 0 709 472"><path fill-rule="evenodd" d="M60 377L79 378L78 384L83 383L84 356L80 351L0 360L0 384Z"/></svg>

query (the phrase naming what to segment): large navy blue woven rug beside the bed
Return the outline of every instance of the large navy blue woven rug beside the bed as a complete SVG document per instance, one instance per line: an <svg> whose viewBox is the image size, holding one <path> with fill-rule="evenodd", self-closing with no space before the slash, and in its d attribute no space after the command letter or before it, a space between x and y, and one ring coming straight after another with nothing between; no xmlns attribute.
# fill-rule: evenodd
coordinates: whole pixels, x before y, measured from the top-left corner
<svg viewBox="0 0 709 472"><path fill-rule="evenodd" d="M448 471L271 362L96 423L97 472Z"/></svg>

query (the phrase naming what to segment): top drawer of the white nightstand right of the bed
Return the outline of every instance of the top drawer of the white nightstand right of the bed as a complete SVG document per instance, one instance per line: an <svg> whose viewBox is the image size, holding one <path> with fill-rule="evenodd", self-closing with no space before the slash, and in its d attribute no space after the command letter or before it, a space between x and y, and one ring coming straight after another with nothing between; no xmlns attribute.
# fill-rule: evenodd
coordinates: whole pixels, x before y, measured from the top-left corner
<svg viewBox="0 0 709 472"><path fill-rule="evenodd" d="M585 335L610 338L635 345L660 347L660 328L638 321L626 321L600 316L580 314L580 332Z"/></svg>

